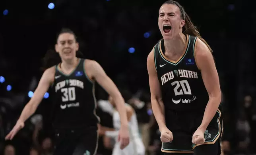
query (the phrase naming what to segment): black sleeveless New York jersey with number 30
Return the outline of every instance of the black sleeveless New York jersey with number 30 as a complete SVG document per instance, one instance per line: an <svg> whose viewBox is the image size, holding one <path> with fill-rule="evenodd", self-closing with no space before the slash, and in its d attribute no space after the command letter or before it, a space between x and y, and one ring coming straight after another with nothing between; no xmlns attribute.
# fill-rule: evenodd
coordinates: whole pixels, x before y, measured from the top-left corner
<svg viewBox="0 0 256 155"><path fill-rule="evenodd" d="M95 113L96 99L94 81L86 75L85 59L79 59L70 74L55 66L53 126L57 129L97 126L99 117Z"/></svg>

